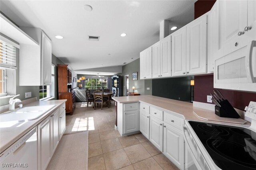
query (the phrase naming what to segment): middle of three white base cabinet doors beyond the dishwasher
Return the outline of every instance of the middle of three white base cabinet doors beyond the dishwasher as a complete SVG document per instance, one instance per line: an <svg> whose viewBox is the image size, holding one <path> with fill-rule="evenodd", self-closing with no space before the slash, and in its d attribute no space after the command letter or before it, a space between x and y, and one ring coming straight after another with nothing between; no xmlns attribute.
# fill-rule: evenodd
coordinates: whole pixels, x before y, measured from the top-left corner
<svg viewBox="0 0 256 170"><path fill-rule="evenodd" d="M52 113L52 154L59 143L59 109Z"/></svg>

